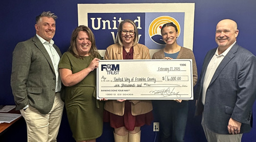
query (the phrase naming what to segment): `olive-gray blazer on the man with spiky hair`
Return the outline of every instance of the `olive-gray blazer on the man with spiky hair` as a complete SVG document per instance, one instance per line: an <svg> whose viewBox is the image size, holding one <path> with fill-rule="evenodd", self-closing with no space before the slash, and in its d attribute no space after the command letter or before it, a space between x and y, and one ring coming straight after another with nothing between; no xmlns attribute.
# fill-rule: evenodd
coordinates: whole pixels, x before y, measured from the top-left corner
<svg viewBox="0 0 256 142"><path fill-rule="evenodd" d="M61 56L60 49L55 44L53 46ZM50 55L37 36L16 45L11 87L17 110L29 104L42 114L50 112L55 97L56 75Z"/></svg>

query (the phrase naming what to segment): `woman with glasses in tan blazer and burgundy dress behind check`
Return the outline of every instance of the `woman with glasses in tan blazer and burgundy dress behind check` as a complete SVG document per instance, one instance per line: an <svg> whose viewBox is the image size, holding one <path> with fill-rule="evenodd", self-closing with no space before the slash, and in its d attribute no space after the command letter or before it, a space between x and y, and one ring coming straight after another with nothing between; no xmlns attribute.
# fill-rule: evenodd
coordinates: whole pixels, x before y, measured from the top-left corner
<svg viewBox="0 0 256 142"><path fill-rule="evenodd" d="M118 43L107 48L104 60L150 59L149 49L137 42L135 23L122 21L118 28ZM150 100L108 100L104 109L104 121L114 128L115 141L140 141L141 126L150 125L153 120Z"/></svg>

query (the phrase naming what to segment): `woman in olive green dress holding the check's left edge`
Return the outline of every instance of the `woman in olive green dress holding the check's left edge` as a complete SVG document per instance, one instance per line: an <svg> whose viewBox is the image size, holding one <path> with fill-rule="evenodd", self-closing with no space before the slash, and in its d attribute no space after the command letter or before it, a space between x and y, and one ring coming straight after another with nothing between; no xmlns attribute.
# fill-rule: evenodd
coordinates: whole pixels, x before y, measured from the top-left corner
<svg viewBox="0 0 256 142"><path fill-rule="evenodd" d="M96 68L100 59L94 34L87 26L78 26L59 63L66 86L67 118L76 141L96 141L102 134L104 102L96 99Z"/></svg>

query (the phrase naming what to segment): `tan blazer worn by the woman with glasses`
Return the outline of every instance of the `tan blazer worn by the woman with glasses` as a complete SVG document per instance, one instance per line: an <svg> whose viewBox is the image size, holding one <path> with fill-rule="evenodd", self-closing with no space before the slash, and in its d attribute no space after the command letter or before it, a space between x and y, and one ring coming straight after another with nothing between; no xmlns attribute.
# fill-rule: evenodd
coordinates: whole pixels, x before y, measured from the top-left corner
<svg viewBox="0 0 256 142"><path fill-rule="evenodd" d="M145 45L136 44L133 47L133 59L150 59L149 49ZM107 47L104 60L123 60L123 47L119 44L112 44ZM153 110L150 100L130 100L131 113L133 116L142 115ZM108 100L105 102L104 109L119 116L124 115L125 102Z"/></svg>

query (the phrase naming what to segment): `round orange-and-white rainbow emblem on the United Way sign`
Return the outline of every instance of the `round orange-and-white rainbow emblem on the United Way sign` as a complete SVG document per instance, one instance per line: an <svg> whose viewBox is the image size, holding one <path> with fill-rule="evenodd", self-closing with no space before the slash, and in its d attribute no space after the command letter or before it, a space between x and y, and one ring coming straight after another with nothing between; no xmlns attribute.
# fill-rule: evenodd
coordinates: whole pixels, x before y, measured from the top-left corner
<svg viewBox="0 0 256 142"><path fill-rule="evenodd" d="M161 28L165 23L173 22L178 29L180 34L180 25L179 22L170 16L159 16L155 18L149 25L149 36L153 42L159 45L165 45L166 43L162 40ZM178 34L178 36L179 36Z"/></svg>

